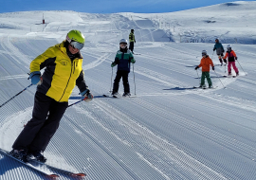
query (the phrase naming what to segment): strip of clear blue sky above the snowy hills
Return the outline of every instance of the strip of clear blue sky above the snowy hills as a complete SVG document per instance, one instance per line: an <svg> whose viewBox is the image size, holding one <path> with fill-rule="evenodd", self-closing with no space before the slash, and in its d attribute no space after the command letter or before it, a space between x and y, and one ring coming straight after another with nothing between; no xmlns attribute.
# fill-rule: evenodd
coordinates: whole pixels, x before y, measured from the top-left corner
<svg viewBox="0 0 256 180"><path fill-rule="evenodd" d="M253 1L253 0L249 0ZM255 1L255 0L254 0ZM75 10L92 13L157 13L227 3L227 0L2 0L0 13L30 10Z"/></svg>

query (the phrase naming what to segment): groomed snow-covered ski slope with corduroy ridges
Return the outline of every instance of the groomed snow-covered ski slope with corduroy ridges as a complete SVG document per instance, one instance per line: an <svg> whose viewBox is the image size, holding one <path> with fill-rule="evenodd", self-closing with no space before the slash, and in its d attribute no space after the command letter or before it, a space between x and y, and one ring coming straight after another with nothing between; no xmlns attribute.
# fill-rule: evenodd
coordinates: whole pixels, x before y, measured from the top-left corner
<svg viewBox="0 0 256 180"><path fill-rule="evenodd" d="M160 14L2 13L0 104L30 84L29 63L36 56L79 29L85 81L95 99L66 110L44 153L47 164L93 180L256 179L255 18L256 2L245 1ZM131 28L137 63L129 81L137 97L101 98L116 75L110 64L119 39L128 39ZM217 37L236 52L239 77L222 77L228 72L212 53ZM215 64L215 89L192 89L200 81L194 67L203 49ZM31 118L35 91L32 86L0 108L2 149L11 150ZM76 87L69 104L79 98ZM1 180L48 179L2 153L0 165Z"/></svg>

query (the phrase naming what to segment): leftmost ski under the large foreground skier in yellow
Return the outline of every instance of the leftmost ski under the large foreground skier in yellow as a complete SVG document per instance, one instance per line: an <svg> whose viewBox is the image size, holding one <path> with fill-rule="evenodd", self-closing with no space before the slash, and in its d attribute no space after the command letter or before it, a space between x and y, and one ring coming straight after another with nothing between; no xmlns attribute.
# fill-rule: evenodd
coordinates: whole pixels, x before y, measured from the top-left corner
<svg viewBox="0 0 256 180"><path fill-rule="evenodd" d="M27 163L25 163L25 162L21 161L20 159L17 159L14 156L12 156L11 154L9 154L8 151L5 151L5 150L3 150L1 148L0 148L0 153L3 153L5 155L9 156L10 158L12 158L12 159L22 163L23 165L26 165L30 169L33 169L35 171L39 171L39 172L45 174L47 177L51 177L51 178L58 178L58 177L60 177L60 175L52 173L52 171L50 171L46 166L42 166L42 165L38 166L38 164L29 162L29 161Z"/></svg>

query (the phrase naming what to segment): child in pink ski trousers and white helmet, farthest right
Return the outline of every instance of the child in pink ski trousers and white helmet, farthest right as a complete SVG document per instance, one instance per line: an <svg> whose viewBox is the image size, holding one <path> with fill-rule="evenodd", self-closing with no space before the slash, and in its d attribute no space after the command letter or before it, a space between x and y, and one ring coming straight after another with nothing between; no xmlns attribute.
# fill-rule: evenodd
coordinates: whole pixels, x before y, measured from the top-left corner
<svg viewBox="0 0 256 180"><path fill-rule="evenodd" d="M226 58L228 57L228 71L229 71L229 76L231 75L231 65L234 68L234 71L236 73L236 76L239 75L239 71L238 68L235 65L235 61L237 60L237 56L235 54L235 52L232 50L231 45L227 45L227 52L225 57L223 58L226 61Z"/></svg>

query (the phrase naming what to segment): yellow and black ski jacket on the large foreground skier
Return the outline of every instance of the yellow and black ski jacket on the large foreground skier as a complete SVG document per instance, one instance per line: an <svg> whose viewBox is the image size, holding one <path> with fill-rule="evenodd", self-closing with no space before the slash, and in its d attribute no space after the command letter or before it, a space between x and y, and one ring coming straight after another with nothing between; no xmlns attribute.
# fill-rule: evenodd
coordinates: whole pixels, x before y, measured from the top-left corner
<svg viewBox="0 0 256 180"><path fill-rule="evenodd" d="M37 86L37 91L60 102L68 101L75 85L80 92L87 88L83 79L82 55L79 52L71 61L64 45L65 41L49 47L30 63L30 73L46 67L43 83Z"/></svg>

